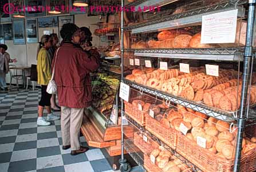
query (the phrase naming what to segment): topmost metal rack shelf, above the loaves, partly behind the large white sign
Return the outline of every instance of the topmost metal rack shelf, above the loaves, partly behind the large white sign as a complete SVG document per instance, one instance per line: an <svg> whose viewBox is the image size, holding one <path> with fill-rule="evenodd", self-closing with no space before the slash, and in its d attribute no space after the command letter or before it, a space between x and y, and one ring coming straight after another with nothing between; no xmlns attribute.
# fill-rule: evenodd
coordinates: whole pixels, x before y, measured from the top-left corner
<svg viewBox="0 0 256 172"><path fill-rule="evenodd" d="M212 6L206 6L199 9L188 10L184 13L168 15L161 18L156 18L148 22L139 24L133 24L131 26L124 27L124 31L131 30L132 34L141 32L155 32L159 30L167 30L179 27L188 27L199 25L202 22L202 16L214 13L220 13L229 10L238 9L238 17L245 17L245 9L237 5L241 5L245 2L228 1L218 3ZM179 23L179 24L177 24Z"/></svg>

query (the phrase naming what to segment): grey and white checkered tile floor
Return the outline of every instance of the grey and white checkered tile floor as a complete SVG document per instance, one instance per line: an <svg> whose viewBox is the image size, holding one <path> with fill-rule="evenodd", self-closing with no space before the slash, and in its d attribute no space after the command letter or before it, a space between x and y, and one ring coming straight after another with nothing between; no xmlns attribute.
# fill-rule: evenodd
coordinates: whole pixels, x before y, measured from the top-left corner
<svg viewBox="0 0 256 172"><path fill-rule="evenodd" d="M0 171L112 171L101 149L76 156L62 150L60 121L37 126L40 96L40 89L0 93ZM83 137L80 140L87 145Z"/></svg>

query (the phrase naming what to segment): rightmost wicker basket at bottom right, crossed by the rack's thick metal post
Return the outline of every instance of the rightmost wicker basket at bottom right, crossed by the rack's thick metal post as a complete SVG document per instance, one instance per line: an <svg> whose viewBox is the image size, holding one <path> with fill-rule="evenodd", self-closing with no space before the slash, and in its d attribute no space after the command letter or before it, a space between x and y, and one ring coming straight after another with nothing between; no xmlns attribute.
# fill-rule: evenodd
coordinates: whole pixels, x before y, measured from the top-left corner
<svg viewBox="0 0 256 172"><path fill-rule="evenodd" d="M201 148L196 142L191 141L183 134L177 134L176 151L187 158L188 161L194 163L199 169L203 171L212 172L231 172L234 167L234 159L227 160L221 158L211 151ZM241 171L255 171L256 170L256 153L255 149L248 151L241 159ZM249 168L250 167L250 168ZM242 170L243 169L243 170Z"/></svg>

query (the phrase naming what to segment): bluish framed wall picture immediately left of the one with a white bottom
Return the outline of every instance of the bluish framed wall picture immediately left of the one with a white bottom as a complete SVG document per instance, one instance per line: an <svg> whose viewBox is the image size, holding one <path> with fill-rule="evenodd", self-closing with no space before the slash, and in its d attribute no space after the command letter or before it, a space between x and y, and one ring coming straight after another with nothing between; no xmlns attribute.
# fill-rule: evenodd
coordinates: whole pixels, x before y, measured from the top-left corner
<svg viewBox="0 0 256 172"><path fill-rule="evenodd" d="M25 44L24 19L13 20L13 44Z"/></svg>

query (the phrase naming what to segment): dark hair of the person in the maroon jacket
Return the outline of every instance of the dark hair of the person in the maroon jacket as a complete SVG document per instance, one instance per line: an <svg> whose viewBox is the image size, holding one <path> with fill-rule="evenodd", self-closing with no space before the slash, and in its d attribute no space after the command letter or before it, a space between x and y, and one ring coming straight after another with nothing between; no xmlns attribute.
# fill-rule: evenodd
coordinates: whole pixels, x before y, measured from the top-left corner
<svg viewBox="0 0 256 172"><path fill-rule="evenodd" d="M66 23L62 26L60 34L64 42L71 42L74 33L79 30L79 27L73 23Z"/></svg>

